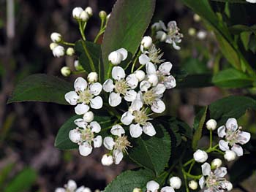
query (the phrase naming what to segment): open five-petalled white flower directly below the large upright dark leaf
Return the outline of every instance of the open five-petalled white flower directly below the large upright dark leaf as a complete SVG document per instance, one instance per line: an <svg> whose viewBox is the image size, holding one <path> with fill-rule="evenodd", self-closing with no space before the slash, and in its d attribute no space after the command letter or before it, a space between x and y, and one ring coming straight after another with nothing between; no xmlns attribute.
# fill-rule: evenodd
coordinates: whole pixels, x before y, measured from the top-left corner
<svg viewBox="0 0 256 192"><path fill-rule="evenodd" d="M113 80L108 79L103 84L104 91L110 93L108 102L110 106L116 107L121 103L121 96L124 96L126 101L134 101L137 93L133 90L138 85L138 79L135 74L129 74L125 78L124 69L120 66L114 66L112 69Z"/></svg>

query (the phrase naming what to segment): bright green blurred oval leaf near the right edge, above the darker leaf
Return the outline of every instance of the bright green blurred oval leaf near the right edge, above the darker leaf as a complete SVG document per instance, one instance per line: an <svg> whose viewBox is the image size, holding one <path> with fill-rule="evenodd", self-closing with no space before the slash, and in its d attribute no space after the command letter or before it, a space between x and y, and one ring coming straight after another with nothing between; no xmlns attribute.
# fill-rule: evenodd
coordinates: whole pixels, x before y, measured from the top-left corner
<svg viewBox="0 0 256 192"><path fill-rule="evenodd" d="M252 86L253 80L237 69L225 69L214 75L215 85L222 88L246 88Z"/></svg>

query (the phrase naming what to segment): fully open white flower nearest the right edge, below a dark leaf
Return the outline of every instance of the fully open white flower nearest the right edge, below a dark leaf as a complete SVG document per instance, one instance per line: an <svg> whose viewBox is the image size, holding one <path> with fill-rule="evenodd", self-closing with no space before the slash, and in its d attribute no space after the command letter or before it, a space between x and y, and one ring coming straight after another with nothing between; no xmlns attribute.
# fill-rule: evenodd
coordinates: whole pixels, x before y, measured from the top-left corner
<svg viewBox="0 0 256 192"><path fill-rule="evenodd" d="M238 127L237 121L235 118L229 118L225 126L218 128L219 137L225 137L225 140L219 141L219 148L223 151L233 150L236 155L243 155L243 148L238 145L244 145L249 142L251 134L245 131L240 131L241 126Z"/></svg>

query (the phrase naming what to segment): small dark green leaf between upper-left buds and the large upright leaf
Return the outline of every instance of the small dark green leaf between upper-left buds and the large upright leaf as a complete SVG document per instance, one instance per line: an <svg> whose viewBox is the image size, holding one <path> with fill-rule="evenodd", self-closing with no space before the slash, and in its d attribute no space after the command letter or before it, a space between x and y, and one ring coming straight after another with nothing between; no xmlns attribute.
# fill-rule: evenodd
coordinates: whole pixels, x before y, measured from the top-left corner
<svg viewBox="0 0 256 192"><path fill-rule="evenodd" d="M100 65L100 45L89 41L79 40L75 42L75 53L78 60L86 72L99 72Z"/></svg>

